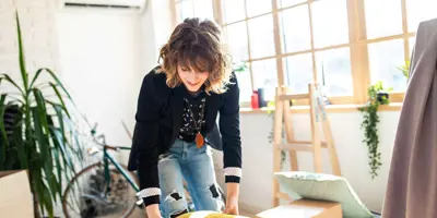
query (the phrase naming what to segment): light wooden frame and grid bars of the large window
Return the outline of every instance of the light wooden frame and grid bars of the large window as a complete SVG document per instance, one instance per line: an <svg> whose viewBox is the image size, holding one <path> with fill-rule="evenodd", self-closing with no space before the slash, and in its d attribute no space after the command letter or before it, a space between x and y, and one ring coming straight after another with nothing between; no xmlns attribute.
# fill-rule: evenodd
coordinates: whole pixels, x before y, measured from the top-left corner
<svg viewBox="0 0 437 218"><path fill-rule="evenodd" d="M170 12L172 12L172 21L173 26L177 24L177 3L187 0L169 0L170 1ZM192 0L191 0L192 1ZM365 0L346 0L346 11L347 11L347 27L349 27L349 41L342 45L334 45L328 46L322 48L315 48L314 44L314 21L312 21L312 3L317 1L323 0L306 0L305 2L297 3L294 5L288 5L284 8L279 8L277 0L271 0L272 10L258 14L255 16L248 16L247 14L247 1L243 0L245 5L245 19L233 21L229 23L224 22L223 17L223 0L211 0L213 4L213 17L215 22L222 27L225 28L228 25L236 24L239 22L246 23L246 33L247 33L247 41L248 41L248 59L244 60L247 61L249 64L248 70L250 71L250 81L251 87L253 89L253 72L251 69L251 62L267 60L274 58L276 60L276 71L277 71L277 85L284 86L285 81L285 70L283 68L283 58L303 53L311 53L312 57L312 83L317 83L317 68L316 68L316 52L331 50L331 49L339 49L339 48L350 48L350 61L351 61L351 75L352 75L352 83L353 83L353 94L352 96L333 96L328 97L332 105L363 105L367 101L367 87L370 85L370 65L369 65L369 53L368 53L368 45L374 43L381 43L381 41L389 41L394 39L402 39L403 47L404 47L404 61L409 61L411 59L410 53L410 38L415 37L415 32L409 32L409 22L408 22L408 13L406 13L406 0L400 0L401 2L401 10L402 10L402 34L398 35L390 35L383 36L378 38L367 38L366 34L366 13L365 13ZM308 50L297 51L297 52L283 52L283 38L281 38L281 26L280 26L280 12L284 10L288 10L292 8L300 7L307 4L308 7L308 16L309 16L309 31L311 37L311 47ZM257 19L263 15L272 14L273 20L273 36L274 36L274 56L262 57L262 58L251 58L250 52L250 33L248 22L252 19ZM226 45L226 40L223 44L224 50L227 52L228 48ZM401 72L400 72L401 73ZM390 95L391 102L402 102L404 98L404 92L392 92ZM308 100L298 100L295 105L308 105ZM250 107L250 102L241 102L241 107Z"/></svg>

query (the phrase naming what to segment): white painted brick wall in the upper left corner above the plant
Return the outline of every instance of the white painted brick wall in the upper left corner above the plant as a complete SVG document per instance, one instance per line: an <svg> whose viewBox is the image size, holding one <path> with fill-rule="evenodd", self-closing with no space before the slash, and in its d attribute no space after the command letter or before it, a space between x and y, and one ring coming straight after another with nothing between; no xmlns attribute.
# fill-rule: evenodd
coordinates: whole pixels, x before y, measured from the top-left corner
<svg viewBox="0 0 437 218"><path fill-rule="evenodd" d="M57 0L0 1L0 72L20 75L15 10L19 11L28 73L59 69L55 29Z"/></svg>

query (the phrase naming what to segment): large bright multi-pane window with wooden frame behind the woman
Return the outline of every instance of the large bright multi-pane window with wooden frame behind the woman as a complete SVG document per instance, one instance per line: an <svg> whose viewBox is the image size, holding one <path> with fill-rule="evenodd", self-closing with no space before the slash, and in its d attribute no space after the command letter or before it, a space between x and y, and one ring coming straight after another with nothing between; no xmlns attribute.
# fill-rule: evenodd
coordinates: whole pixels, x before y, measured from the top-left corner
<svg viewBox="0 0 437 218"><path fill-rule="evenodd" d="M233 61L248 63L237 74L244 105L255 89L272 100L279 85L303 94L308 83L322 84L332 104L364 104L377 81L400 102L406 80L399 66L411 58L420 22L437 17L435 0L175 2L178 21L215 17Z"/></svg>

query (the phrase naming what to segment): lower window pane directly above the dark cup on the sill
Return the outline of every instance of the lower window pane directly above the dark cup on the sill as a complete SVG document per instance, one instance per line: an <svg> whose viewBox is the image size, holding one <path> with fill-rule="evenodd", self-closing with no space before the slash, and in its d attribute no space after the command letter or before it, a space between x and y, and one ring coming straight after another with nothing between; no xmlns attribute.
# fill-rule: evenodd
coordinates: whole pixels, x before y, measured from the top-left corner
<svg viewBox="0 0 437 218"><path fill-rule="evenodd" d="M276 59L253 61L251 63L255 88L264 88L267 100L273 100L277 87Z"/></svg>

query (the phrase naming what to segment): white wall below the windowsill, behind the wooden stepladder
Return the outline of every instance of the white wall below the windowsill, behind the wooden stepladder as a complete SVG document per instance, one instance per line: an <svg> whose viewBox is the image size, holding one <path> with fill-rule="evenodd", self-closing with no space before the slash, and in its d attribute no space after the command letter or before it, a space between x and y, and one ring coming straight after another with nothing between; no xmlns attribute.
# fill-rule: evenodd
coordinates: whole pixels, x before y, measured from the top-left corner
<svg viewBox="0 0 437 218"><path fill-rule="evenodd" d="M350 182L359 198L375 211L381 209L387 186L392 145L398 126L399 112L380 112L380 152L382 166L379 177L371 179L368 168L367 146L362 143L362 113L329 113L332 134L340 160L342 175ZM268 135L272 128L272 118L267 114L241 114L243 179L240 203L255 209L271 208L271 189L273 174L272 145ZM293 117L295 138L310 140L309 116L298 113ZM326 152L326 150L324 150ZM309 153L298 153L300 170L312 171L312 158ZM216 167L222 168L222 154L214 154ZM328 153L323 154L324 172L330 173ZM288 161L287 161L288 162ZM287 166L284 170L288 170ZM222 174L217 174L223 177ZM223 179L220 180L222 185Z"/></svg>

